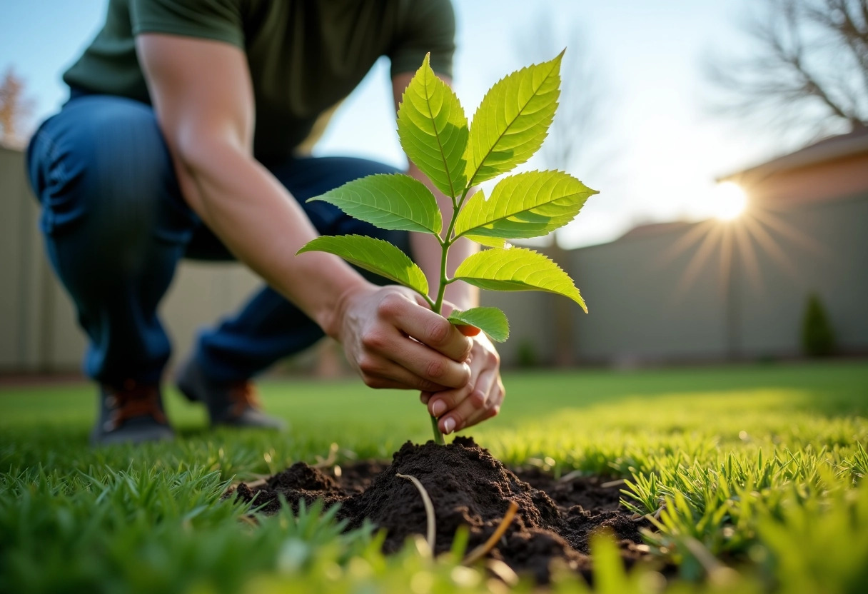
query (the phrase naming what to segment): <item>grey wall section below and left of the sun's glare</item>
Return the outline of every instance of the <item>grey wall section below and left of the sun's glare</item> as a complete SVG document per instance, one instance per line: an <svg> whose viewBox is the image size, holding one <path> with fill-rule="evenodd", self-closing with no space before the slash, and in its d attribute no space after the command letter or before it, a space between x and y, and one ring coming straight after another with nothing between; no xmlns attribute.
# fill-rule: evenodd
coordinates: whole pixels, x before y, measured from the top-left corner
<svg viewBox="0 0 868 594"><path fill-rule="evenodd" d="M573 252L569 273L589 310L575 320L576 359L629 365L720 357L726 348L720 250L690 267L695 247L673 251L683 233Z"/></svg>

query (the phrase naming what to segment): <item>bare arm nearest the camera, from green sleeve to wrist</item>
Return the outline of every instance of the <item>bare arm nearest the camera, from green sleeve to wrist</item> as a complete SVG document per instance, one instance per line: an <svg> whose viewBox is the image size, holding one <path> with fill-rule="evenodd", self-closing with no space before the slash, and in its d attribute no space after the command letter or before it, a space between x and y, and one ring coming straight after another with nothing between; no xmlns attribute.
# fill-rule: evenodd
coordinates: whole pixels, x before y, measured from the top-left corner
<svg viewBox="0 0 868 594"><path fill-rule="evenodd" d="M343 295L367 283L336 256L295 256L317 233L253 158L255 105L244 52L158 33L136 36L135 50L187 203L240 261L333 335Z"/></svg>

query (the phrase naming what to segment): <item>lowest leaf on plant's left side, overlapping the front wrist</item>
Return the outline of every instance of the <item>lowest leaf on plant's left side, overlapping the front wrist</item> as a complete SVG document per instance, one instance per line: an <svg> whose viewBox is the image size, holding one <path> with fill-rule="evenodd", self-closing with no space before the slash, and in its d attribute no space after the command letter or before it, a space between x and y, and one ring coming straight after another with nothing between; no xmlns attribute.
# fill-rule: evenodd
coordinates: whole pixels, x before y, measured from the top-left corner
<svg viewBox="0 0 868 594"><path fill-rule="evenodd" d="M345 261L374 274L385 276L404 287L410 287L419 294L428 294L428 280L422 268L416 266L407 254L388 241L365 237L365 235L323 235L308 241L299 249L298 254L304 252L328 252L339 255Z"/></svg>

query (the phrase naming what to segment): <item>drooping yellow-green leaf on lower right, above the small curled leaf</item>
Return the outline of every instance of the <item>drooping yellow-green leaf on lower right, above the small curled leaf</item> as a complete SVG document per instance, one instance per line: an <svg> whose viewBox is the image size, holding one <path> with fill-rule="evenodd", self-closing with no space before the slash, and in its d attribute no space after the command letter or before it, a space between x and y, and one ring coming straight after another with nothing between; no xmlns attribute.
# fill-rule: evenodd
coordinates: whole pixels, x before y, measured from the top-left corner
<svg viewBox="0 0 868 594"><path fill-rule="evenodd" d="M569 274L544 255L523 247L473 254L458 266L455 279L492 291L548 291L569 297L588 312Z"/></svg>

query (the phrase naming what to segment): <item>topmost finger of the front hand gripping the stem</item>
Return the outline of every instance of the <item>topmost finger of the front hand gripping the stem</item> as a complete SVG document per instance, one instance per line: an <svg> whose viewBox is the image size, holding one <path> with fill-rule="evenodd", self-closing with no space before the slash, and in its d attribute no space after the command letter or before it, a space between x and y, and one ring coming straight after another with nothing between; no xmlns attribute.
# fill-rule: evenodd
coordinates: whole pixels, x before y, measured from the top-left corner
<svg viewBox="0 0 868 594"><path fill-rule="evenodd" d="M442 315L411 300L399 295L387 297L380 302L378 313L402 332L451 360L464 361L470 354L473 343L469 338L458 332Z"/></svg>

